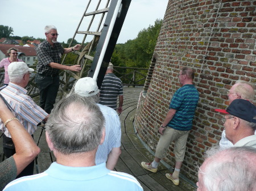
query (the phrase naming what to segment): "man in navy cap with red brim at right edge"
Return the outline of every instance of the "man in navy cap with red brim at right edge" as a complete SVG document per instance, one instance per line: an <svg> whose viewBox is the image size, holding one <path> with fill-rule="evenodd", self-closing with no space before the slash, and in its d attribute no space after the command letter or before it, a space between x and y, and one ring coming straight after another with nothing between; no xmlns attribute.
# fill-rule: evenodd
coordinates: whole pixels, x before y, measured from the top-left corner
<svg viewBox="0 0 256 191"><path fill-rule="evenodd" d="M226 138L235 147L251 146L256 148L256 107L250 101L243 99L233 100L225 109L215 109L225 113L222 122L226 130Z"/></svg>

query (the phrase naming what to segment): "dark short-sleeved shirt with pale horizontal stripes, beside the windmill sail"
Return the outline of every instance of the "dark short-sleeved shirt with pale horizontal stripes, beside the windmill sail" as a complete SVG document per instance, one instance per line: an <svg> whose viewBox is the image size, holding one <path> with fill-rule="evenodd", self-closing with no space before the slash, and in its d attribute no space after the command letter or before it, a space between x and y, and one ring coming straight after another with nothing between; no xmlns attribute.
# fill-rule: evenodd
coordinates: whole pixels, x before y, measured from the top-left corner
<svg viewBox="0 0 256 191"><path fill-rule="evenodd" d="M117 96L123 95L123 85L121 79L113 73L105 75L101 84L100 104L117 109Z"/></svg>

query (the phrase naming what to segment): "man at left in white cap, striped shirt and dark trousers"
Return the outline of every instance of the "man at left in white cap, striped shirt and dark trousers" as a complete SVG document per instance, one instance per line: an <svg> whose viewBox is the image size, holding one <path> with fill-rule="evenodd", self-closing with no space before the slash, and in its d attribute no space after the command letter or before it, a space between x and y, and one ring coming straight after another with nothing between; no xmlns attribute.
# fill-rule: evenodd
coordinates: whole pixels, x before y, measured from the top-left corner
<svg viewBox="0 0 256 191"><path fill-rule="evenodd" d="M26 95L27 90L24 87L27 86L32 71L34 69L29 68L24 62L11 63L8 67L10 77L9 86L1 91L1 95L10 104L11 108L13 108L14 116L18 118L30 135L35 132L36 125L42 120L47 121L49 116L48 113L36 105L30 96ZM2 121L0 122L0 130L4 133L3 152L9 158L15 154L14 143ZM18 177L33 175L33 172L34 161L28 164Z"/></svg>

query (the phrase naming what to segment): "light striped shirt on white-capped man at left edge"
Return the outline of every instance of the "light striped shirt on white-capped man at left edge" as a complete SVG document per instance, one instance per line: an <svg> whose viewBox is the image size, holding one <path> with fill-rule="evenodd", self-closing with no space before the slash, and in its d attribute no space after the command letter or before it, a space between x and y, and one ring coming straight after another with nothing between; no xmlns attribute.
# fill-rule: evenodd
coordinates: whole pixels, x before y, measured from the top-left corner
<svg viewBox="0 0 256 191"><path fill-rule="evenodd" d="M14 116L18 118L20 123L31 135L35 132L36 125L48 115L48 113L35 104L30 96L26 95L27 90L17 84L10 82L9 86L1 91L1 94L14 109ZM11 138L8 129L1 120L0 130L5 133L6 137Z"/></svg>

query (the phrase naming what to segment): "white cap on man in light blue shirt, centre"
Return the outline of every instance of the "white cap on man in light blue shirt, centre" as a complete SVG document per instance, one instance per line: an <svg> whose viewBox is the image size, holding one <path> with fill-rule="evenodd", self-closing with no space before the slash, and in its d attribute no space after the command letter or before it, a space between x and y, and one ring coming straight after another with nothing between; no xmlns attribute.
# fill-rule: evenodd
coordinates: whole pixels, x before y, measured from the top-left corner
<svg viewBox="0 0 256 191"><path fill-rule="evenodd" d="M75 84L75 93L82 97L89 97L98 94L100 90L98 89L96 80L85 77L77 80Z"/></svg>

